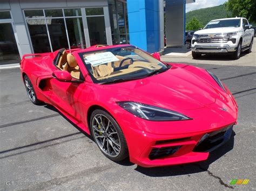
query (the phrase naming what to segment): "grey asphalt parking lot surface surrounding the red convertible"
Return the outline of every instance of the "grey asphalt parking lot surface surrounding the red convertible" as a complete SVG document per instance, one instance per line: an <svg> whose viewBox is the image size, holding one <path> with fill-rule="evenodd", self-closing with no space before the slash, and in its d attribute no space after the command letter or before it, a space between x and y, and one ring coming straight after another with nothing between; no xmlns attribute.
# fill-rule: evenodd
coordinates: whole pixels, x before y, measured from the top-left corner
<svg viewBox="0 0 256 191"><path fill-rule="evenodd" d="M212 152L207 161L160 168L143 168L129 160L112 162L90 136L55 108L30 102L19 68L2 69L0 189L255 190L255 44L253 52L238 61L211 56L163 60L210 70L230 88L238 102L235 135ZM250 181L248 185L230 185L232 179Z"/></svg>

